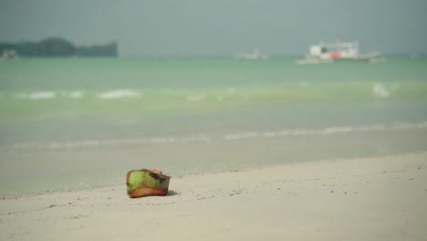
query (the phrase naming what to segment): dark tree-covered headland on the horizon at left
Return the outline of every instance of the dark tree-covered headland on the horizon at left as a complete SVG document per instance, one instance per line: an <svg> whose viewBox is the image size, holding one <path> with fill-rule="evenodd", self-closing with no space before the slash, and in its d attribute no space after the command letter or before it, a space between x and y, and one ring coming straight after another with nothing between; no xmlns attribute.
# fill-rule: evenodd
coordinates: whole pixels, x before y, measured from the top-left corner
<svg viewBox="0 0 427 241"><path fill-rule="evenodd" d="M117 57L117 42L106 45L75 46L61 37L49 37L40 42L0 42L4 57Z"/></svg>

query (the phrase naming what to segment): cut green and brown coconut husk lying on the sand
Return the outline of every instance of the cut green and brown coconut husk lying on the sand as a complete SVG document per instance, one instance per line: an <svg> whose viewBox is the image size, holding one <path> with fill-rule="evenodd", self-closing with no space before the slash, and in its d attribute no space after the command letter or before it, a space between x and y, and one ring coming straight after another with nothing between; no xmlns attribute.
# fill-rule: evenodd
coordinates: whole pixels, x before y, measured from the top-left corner
<svg viewBox="0 0 427 241"><path fill-rule="evenodd" d="M130 197L166 195L171 177L155 170L131 170L126 174L126 185Z"/></svg>

